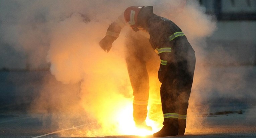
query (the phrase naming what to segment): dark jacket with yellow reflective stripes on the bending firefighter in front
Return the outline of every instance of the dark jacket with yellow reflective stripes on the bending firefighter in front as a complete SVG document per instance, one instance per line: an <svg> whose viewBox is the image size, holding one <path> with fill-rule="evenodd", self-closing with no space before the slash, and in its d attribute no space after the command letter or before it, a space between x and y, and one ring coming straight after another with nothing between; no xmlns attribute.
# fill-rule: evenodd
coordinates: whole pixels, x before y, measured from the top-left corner
<svg viewBox="0 0 256 138"><path fill-rule="evenodd" d="M161 65L184 61L188 53L194 52L181 29L169 19L154 14L148 20L147 31Z"/></svg>

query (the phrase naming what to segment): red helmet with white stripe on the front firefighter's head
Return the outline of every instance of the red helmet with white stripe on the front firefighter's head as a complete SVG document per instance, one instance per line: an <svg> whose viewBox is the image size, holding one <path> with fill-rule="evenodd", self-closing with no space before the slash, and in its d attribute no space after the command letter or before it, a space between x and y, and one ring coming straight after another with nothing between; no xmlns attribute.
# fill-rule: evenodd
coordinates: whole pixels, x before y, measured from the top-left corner
<svg viewBox="0 0 256 138"><path fill-rule="evenodd" d="M145 6L143 6L145 7ZM134 30L137 31L137 27L138 25L138 20L137 17L139 15L140 10L143 8L141 6L131 6L128 7L125 11L124 11L124 20L126 23L129 24L129 26Z"/></svg>

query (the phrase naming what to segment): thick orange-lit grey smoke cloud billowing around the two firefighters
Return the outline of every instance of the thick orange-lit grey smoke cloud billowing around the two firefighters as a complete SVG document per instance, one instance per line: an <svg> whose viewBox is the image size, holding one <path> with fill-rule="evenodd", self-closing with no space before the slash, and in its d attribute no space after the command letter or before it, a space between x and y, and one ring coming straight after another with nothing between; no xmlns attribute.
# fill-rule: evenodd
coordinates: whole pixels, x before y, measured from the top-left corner
<svg viewBox="0 0 256 138"><path fill-rule="evenodd" d="M196 51L197 64L203 65L206 38L215 31L216 23L197 1L188 1L185 6L182 2L4 0L0 2L0 42L22 55L29 68L41 69L50 65L52 75L63 83L62 88L55 87L56 83L46 76L42 83L45 88L31 107L41 113L60 111L60 114L51 116L52 124L65 128L74 125L74 120L80 120L80 124L93 120L97 125L90 125L81 133L87 136L125 134L118 130L120 120L124 120L118 120L120 114L115 113L132 105L132 87L123 57L125 34L130 28L121 31L109 53L104 53L98 42L105 36L108 25L126 7L153 5L154 13L173 20L182 29ZM207 107L198 106L200 102L196 101L202 97L202 81L206 83L205 78L210 75L208 71L196 67L188 130L200 123L189 116L196 115L199 109L207 110ZM159 82L151 84L151 88L159 92ZM126 111L132 117L131 113L132 109Z"/></svg>

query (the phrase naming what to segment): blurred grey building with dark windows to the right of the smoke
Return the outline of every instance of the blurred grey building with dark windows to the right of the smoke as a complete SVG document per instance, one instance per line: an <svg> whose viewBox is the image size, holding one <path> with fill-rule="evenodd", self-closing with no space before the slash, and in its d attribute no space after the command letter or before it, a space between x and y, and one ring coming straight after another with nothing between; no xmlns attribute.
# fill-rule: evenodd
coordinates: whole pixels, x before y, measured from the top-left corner
<svg viewBox="0 0 256 138"><path fill-rule="evenodd" d="M199 3L207 14L217 18L217 30L208 38L208 49L221 47L233 57L217 64L256 65L256 0L199 0Z"/></svg>

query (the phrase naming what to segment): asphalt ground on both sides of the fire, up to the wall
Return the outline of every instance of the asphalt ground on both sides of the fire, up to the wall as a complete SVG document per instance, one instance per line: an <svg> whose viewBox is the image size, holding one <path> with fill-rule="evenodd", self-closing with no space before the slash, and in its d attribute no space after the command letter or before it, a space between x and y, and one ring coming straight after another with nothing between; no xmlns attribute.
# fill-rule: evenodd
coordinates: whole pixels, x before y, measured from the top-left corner
<svg viewBox="0 0 256 138"><path fill-rule="evenodd" d="M225 91L210 91L208 94L214 93L215 95L208 95L209 98L206 99L209 105L208 114L203 115L202 113L202 118L192 118L197 120L203 119L202 124L187 127L185 136L175 137L256 138L255 70L256 67L215 69L214 73L221 74L222 76L223 72L231 72L231 74L246 72L242 81L246 85L240 89L231 89L226 93ZM51 120L51 114L27 113L27 107L31 106L31 101L38 96L40 92L40 88L42 87L41 81L44 80L44 76L49 77L49 80L54 82L53 87L56 85L56 87L54 87L55 90L58 90L60 87L63 89L70 88L69 85L56 82L54 76L49 74L49 71L0 73L0 138L87 137L83 132L86 131L88 127L94 126L94 121L85 118L85 121L81 122L77 121L77 118L79 119L81 117L74 116L73 118L72 116L72 123L65 124L64 121L62 122L63 124L60 125L61 123ZM216 78L212 78L215 83L227 82L226 79L225 81L219 81L218 76L220 75L216 75ZM230 81L230 79L228 81ZM234 83L232 88L236 87L237 84L240 83ZM77 91L79 91L80 85L72 85L71 87L75 90L78 87ZM218 95L218 92L228 96L219 98L221 95ZM235 97L235 94L237 94L238 97ZM243 98L239 98L240 96ZM44 118L44 116L50 117ZM58 115L54 117L58 118ZM61 119L63 119L63 116ZM55 125L55 123L58 123L58 125ZM140 136L108 135L105 137L139 138ZM152 136L145 137L151 138Z"/></svg>

